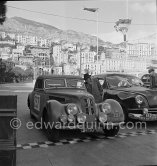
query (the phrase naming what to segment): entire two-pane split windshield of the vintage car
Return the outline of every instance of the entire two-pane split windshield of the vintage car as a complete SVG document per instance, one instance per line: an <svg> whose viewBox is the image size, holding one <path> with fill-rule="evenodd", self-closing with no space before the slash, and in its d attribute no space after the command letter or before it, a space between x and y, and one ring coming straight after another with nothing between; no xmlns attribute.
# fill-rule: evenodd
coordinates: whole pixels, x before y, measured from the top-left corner
<svg viewBox="0 0 157 166"><path fill-rule="evenodd" d="M45 88L74 87L85 88L82 79L76 78L53 78L45 81Z"/></svg>

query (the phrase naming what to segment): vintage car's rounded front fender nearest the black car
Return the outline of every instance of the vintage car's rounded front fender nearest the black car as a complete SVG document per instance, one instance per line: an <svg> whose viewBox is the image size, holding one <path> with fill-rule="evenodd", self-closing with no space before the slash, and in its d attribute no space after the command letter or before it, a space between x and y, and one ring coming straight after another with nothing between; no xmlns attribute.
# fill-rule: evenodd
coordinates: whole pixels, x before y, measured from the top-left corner
<svg viewBox="0 0 157 166"><path fill-rule="evenodd" d="M124 113L121 105L113 99L106 99L104 102L111 105L111 113L108 114L107 121L113 123L124 122Z"/></svg>

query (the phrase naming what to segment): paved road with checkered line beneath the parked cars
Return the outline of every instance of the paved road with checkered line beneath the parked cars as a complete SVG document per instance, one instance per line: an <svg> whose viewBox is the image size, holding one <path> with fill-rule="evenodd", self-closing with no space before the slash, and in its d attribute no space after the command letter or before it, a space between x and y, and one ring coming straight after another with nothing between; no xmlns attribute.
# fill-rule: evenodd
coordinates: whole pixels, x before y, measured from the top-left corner
<svg viewBox="0 0 157 166"><path fill-rule="evenodd" d="M49 142L42 130L26 128L26 123L32 121L26 105L32 89L29 83L0 87L0 95L18 97L22 126L17 130L17 166L157 165L157 122L147 123L142 129L125 127L119 136L109 139L101 133L97 137L71 133L68 139L65 136L62 141Z"/></svg>

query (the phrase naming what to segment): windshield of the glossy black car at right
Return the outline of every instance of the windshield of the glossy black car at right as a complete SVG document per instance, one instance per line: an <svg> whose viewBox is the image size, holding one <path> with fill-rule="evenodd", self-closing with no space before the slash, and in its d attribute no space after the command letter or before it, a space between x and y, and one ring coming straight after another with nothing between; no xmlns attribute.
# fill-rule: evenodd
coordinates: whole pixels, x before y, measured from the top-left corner
<svg viewBox="0 0 157 166"><path fill-rule="evenodd" d="M135 76L107 76L110 88L143 86L142 81Z"/></svg>

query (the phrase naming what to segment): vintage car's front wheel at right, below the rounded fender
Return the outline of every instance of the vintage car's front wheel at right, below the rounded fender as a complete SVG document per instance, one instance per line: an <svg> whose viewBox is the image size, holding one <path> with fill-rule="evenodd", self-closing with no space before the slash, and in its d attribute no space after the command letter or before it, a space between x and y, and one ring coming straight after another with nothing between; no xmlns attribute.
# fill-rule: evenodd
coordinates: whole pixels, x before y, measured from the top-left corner
<svg viewBox="0 0 157 166"><path fill-rule="evenodd" d="M107 129L107 127L106 127L106 128L103 129L103 131L104 131L104 135L106 137L114 137L119 132L119 126L114 126L111 129Z"/></svg>

